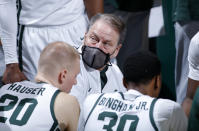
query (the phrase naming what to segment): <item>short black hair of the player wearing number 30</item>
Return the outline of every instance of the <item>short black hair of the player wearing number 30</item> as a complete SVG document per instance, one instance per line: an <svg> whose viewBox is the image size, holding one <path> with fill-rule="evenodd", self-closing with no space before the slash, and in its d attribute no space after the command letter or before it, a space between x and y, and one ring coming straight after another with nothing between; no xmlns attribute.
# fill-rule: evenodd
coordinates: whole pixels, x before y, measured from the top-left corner
<svg viewBox="0 0 199 131"><path fill-rule="evenodd" d="M137 86L148 84L155 76L160 75L160 72L158 57L149 51L133 53L124 63L124 80Z"/></svg>

